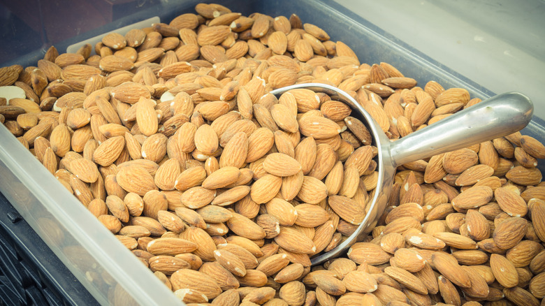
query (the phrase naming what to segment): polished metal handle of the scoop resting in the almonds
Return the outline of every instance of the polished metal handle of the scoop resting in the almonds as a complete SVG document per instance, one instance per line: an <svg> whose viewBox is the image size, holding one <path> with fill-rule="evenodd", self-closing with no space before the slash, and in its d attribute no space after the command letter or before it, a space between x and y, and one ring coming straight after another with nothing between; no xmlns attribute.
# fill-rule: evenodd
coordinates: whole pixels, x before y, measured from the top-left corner
<svg viewBox="0 0 545 306"><path fill-rule="evenodd" d="M523 129L533 111L528 96L498 94L391 142L392 162L399 166L509 135Z"/></svg>

